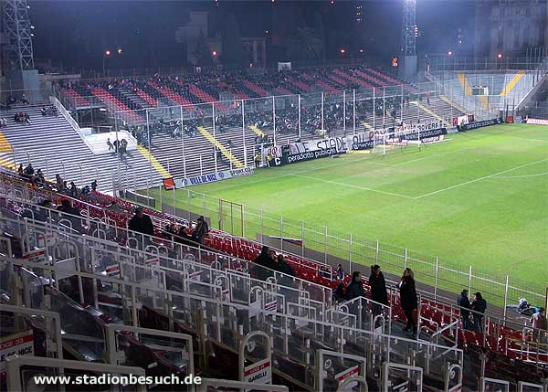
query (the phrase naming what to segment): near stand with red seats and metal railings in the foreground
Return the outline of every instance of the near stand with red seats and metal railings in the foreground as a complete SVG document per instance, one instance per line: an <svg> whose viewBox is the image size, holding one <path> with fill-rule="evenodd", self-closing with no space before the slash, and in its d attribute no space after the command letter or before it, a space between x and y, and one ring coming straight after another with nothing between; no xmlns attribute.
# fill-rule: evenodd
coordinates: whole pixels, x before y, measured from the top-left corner
<svg viewBox="0 0 548 392"><path fill-rule="evenodd" d="M33 285L44 287L44 291L24 295L23 302L29 309L40 307L47 303L43 295L49 296L48 310L62 315L61 326L67 335L61 338L63 349L72 357L100 358L105 334L111 328L123 330L109 324L126 323L157 330L158 336L163 331L184 334L178 335L180 339L190 336L184 344L183 363L167 354L174 351L174 344L169 344L171 350L167 344L158 347L142 338L121 344L126 353L123 362L153 369L147 374L194 370L205 376L236 378L241 343L237 336L263 330L278 342L273 345L275 375L286 385L306 390L317 390L321 382L326 383L324 390L336 389L335 375L348 367L333 369L327 376L316 375L315 361L321 350L367 358L362 376L370 390L396 380L423 383L426 390L449 390L459 387L462 380L459 388L477 390L481 377L508 382L515 389L521 381L542 385L546 376L548 353L532 340L530 329L488 315L483 319L484 333L464 330L458 307L427 292L421 292L419 299L419 334L409 339L402 332L405 316L393 286L389 306L376 318L374 302L367 298L333 302L332 292L339 281L326 264L285 254L295 272L291 277L253 262L260 251L258 243L218 230L210 231L200 249L192 240L165 229L168 224L192 228L193 222L148 208L144 212L153 217L155 233L153 238L143 237L126 229L134 206L99 192L71 198L58 193L54 184L33 189L25 178L5 173L0 195L0 244L4 254L11 253L2 262L10 274L20 276L23 292ZM37 206L44 199L55 205L69 200L82 217ZM86 234L83 240L82 233ZM10 260L24 268L14 269ZM41 278L48 275L57 278L53 284ZM13 276L0 281L4 300L17 295L9 290ZM363 285L367 297L366 279ZM132 292L130 297L128 292ZM165 306L166 295L173 306ZM37 335L48 334L39 323L30 327ZM193 352L190 340L205 352ZM215 363L204 361L200 355L206 353L216 353ZM261 354L259 348L249 359L253 362ZM190 361L193 355L195 361ZM219 357L227 360L218 361ZM150 366L153 361L158 366ZM386 363L392 364L388 367L419 366L422 375L402 377L389 368L383 370ZM194 364L199 364L197 370Z"/></svg>

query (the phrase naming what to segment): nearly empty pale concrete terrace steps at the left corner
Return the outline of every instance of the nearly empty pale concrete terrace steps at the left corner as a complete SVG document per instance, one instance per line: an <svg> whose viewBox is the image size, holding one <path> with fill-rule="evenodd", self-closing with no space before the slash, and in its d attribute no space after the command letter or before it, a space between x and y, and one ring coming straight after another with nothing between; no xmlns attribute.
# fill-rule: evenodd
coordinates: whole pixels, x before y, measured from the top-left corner
<svg viewBox="0 0 548 392"><path fill-rule="evenodd" d="M11 169L15 155L17 166L23 164L25 167L30 162L35 170L42 169L48 178L61 175L68 183L74 181L79 186L90 185L97 179L102 191L111 192L113 174L119 166L116 156L110 153L93 154L61 114L42 116L41 107L48 105L48 102L37 106L17 105L10 111L3 111L8 125L2 132L5 141L13 147L13 152L0 154L0 164ZM30 124L14 121L19 111L28 113ZM146 186L151 172L153 184L158 184L162 179L162 175L135 150L120 162L120 170L120 180L127 188Z"/></svg>

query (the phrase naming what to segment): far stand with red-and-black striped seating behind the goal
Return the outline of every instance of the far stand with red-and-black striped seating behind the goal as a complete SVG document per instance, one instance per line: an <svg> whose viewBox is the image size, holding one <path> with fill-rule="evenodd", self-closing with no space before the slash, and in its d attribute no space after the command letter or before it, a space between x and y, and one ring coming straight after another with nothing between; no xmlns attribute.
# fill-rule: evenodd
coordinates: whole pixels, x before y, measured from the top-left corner
<svg viewBox="0 0 548 392"><path fill-rule="evenodd" d="M435 84L419 91L406 84L388 86L388 82L398 80L374 69L353 67L262 75L212 73L184 79L155 76L62 86L80 96L82 90L110 89L112 94L106 96L115 94L117 98L106 100L101 92L102 101L107 101L109 111L120 119L119 129L132 132L138 143L149 149L151 159L170 175L180 177L253 165L256 148L265 142L341 136L403 121L450 124L453 115L464 113L463 108L437 94ZM318 90L324 92L311 92ZM300 95L288 95L295 93ZM234 99L217 101L221 96L227 99L227 94ZM270 94L279 96L274 100ZM87 100L96 101L96 97ZM68 101L78 105L72 95ZM135 109L129 111L130 105ZM268 139L263 140L263 134ZM184 160L180 159L182 151Z"/></svg>

